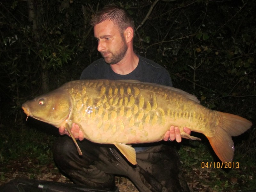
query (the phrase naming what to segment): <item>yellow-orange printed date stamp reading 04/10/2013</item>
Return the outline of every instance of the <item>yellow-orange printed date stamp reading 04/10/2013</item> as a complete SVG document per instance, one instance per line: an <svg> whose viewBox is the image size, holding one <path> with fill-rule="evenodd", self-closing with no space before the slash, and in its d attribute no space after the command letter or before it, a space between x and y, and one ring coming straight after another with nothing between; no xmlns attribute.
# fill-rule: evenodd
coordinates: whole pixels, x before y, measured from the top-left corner
<svg viewBox="0 0 256 192"><path fill-rule="evenodd" d="M227 168L239 168L239 162L202 162L202 169L227 169Z"/></svg>

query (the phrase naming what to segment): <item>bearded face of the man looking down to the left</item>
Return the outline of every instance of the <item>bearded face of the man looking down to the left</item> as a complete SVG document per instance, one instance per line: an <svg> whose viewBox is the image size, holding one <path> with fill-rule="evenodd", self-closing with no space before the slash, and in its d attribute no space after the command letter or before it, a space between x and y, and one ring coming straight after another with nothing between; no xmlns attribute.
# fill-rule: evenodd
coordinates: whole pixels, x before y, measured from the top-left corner
<svg viewBox="0 0 256 192"><path fill-rule="evenodd" d="M98 51L106 63L116 64L124 58L127 45L124 36L112 21L105 20L95 25L94 36L98 40Z"/></svg>

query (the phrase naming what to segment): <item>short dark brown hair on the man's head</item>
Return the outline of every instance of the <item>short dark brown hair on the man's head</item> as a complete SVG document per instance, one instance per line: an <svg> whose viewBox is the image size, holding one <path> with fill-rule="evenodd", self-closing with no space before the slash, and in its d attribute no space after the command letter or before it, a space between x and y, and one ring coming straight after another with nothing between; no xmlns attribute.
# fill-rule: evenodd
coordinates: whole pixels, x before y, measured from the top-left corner
<svg viewBox="0 0 256 192"><path fill-rule="evenodd" d="M118 26L120 33L123 33L127 27L132 27L134 31L134 21L130 14L123 8L109 4L104 6L99 12L92 16L90 24L94 27L95 25L105 21L111 20Z"/></svg>

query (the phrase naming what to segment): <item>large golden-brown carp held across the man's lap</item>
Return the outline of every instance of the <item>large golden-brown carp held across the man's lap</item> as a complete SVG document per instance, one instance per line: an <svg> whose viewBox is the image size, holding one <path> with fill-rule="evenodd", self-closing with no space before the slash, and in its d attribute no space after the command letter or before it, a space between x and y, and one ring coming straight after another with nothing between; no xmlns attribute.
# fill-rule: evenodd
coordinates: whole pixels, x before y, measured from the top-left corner
<svg viewBox="0 0 256 192"><path fill-rule="evenodd" d="M40 99L47 105L40 105ZM57 128L62 125L69 130L73 122L79 124L84 138L114 144L132 164L136 164L135 150L125 144L162 140L171 125L178 126L184 138L198 139L184 133L184 126L203 133L220 160L229 162L234 155L231 136L252 125L240 116L205 108L182 90L125 80L68 82L22 108L28 116Z"/></svg>

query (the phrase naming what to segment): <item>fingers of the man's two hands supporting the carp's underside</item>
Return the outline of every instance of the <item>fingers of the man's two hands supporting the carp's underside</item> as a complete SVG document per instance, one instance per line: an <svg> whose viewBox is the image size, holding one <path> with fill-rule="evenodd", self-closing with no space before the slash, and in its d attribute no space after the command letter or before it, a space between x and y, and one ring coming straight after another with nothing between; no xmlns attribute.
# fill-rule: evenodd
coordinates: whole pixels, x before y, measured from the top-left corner
<svg viewBox="0 0 256 192"><path fill-rule="evenodd" d="M190 135L191 130L188 127L183 128L184 132ZM71 132L74 135L75 139L79 139L80 141L84 139L83 132L80 130L79 126L75 123L72 124ZM59 128L60 135L68 134L68 131L65 130L65 127L60 126ZM177 142L181 142L181 135L179 127L171 126L170 130L167 131L164 135L164 141L170 139L171 141L176 140Z"/></svg>

